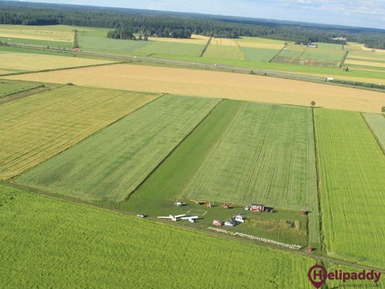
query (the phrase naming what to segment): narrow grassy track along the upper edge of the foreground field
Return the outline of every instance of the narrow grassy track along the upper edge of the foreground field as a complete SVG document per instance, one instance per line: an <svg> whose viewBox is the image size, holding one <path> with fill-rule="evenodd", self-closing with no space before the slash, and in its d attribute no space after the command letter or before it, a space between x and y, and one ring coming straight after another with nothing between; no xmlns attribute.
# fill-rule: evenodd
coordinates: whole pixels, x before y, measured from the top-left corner
<svg viewBox="0 0 385 289"><path fill-rule="evenodd" d="M3 182L3 181L0 181L0 184L3 185L3 186L9 186L9 187L12 187L12 188L15 188L15 189L22 189L24 191L28 191L28 192L31 192L31 193L36 193L37 195L47 195L49 197L54 197L56 199L65 200L67 202L74 202L74 203L78 203L78 204L84 204L86 206L91 206L91 207L94 207L94 208L101 208L102 210L105 210L105 211L111 211L111 212L120 213L120 214L123 214L123 215L131 215L131 216L135 215L134 213L131 213L131 212L128 212L128 211L123 211L123 210L120 210L118 208L107 207L107 206L103 206L103 205L100 205L100 204L95 204L95 203L91 203L91 202L87 202L87 201L83 201L83 200L74 199L72 197L66 197L64 195L56 195L54 193L49 193L47 191L42 191L42 190L39 190L39 189L31 188L29 186L23 186L23 185L13 184L13 183L11 184L9 182ZM253 243L251 240L248 240L248 239L241 239L239 237L234 237L234 236L230 236L230 235L223 235L221 233L215 233L215 232L212 232L212 231L210 232L208 230L202 230L202 229L199 229L199 228L190 228L190 227L179 225L179 224L170 224L170 222L166 222L164 220L161 221L161 220L159 220L159 219L157 219L155 217L147 217L147 219L151 220L152 222L162 222L162 223L168 224L170 226L179 226L181 228L186 228L188 230L199 231L199 232L206 233L208 235L212 235L212 236L216 236L216 237L222 237L222 238L226 238L226 239L231 239L234 242L242 242L242 243L254 244L255 246L263 246L263 247L272 248L272 249L275 249L275 250L285 251L285 252L288 252L288 253L294 253L294 254L298 254L298 255L303 255L303 256L311 257L313 259L320 260L320 261L325 261L326 260L326 261L333 262L333 263L336 263L336 264L352 266L352 267L355 267L355 268L360 268L360 269L365 269L365 270L375 270L377 272L384 272L385 273L384 269L379 269L379 268L375 268L375 267L371 267L371 266L365 266L365 265L354 263L354 262L351 262L351 261L344 261L342 259L336 259L336 258L333 258L333 257L325 257L325 256L322 256L322 255L312 255L310 253L300 252L298 250L291 250L291 249L288 249L288 248L277 248L276 246L272 246L270 244Z"/></svg>

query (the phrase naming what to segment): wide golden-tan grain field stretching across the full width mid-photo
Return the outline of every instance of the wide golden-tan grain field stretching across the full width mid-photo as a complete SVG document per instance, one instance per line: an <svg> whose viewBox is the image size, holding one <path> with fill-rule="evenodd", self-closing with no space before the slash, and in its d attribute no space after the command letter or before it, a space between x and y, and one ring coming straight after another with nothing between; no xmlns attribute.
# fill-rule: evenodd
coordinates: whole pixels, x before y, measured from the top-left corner
<svg viewBox="0 0 385 289"><path fill-rule="evenodd" d="M376 113L385 103L383 93L326 83L144 65L103 65L4 78L289 105L309 106L314 100L319 107Z"/></svg>

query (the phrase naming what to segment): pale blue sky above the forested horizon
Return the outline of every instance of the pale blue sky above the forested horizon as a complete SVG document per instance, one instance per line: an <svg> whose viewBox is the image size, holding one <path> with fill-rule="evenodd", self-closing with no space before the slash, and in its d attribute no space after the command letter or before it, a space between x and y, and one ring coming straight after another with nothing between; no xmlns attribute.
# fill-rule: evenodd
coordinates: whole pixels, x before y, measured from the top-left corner
<svg viewBox="0 0 385 289"><path fill-rule="evenodd" d="M385 29L385 0L28 0L28 2L198 12Z"/></svg>

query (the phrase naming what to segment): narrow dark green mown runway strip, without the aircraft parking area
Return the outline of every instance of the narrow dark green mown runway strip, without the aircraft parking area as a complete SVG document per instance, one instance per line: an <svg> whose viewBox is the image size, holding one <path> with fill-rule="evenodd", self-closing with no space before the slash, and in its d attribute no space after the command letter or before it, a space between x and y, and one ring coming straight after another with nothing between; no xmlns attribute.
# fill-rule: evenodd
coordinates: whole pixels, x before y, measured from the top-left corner
<svg viewBox="0 0 385 289"><path fill-rule="evenodd" d="M120 207L129 211L154 211L155 202L180 197L242 103L222 100Z"/></svg>

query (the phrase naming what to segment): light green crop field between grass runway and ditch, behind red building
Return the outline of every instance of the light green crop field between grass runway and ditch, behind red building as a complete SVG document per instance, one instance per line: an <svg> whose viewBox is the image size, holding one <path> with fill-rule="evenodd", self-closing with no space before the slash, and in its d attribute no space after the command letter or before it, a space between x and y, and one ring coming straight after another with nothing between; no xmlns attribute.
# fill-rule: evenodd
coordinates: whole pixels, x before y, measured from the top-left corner
<svg viewBox="0 0 385 289"><path fill-rule="evenodd" d="M243 103L181 197L234 204L314 206L311 109Z"/></svg>

